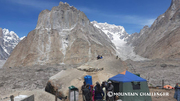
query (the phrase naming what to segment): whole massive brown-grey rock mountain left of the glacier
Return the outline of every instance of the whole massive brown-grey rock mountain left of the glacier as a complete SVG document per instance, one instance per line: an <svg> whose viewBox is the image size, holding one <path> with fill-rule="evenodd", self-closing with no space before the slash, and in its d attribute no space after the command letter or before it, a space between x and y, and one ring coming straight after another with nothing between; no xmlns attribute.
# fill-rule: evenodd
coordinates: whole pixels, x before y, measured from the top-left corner
<svg viewBox="0 0 180 101"><path fill-rule="evenodd" d="M60 2L39 14L36 28L16 46L4 67L82 64L98 54L111 56L114 49L83 12Z"/></svg>

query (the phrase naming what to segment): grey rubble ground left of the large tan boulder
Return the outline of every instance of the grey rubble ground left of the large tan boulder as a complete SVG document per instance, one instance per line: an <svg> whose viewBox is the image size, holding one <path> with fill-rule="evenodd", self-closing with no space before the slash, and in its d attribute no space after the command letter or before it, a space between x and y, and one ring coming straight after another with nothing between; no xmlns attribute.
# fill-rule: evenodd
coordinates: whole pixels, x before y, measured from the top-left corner
<svg viewBox="0 0 180 101"><path fill-rule="evenodd" d="M49 77L64 69L63 66L35 66L0 69L0 96L18 90L44 89Z"/></svg>

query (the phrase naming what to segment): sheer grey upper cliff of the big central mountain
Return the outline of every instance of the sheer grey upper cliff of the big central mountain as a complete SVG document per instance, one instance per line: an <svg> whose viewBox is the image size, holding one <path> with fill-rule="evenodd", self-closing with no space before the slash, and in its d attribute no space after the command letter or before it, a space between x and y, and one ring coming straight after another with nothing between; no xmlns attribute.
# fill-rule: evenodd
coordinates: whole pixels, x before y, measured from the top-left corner
<svg viewBox="0 0 180 101"><path fill-rule="evenodd" d="M51 11L44 10L39 14L36 29L71 29L77 24L86 26L89 19L86 15L67 3L60 2L59 6L53 7Z"/></svg>

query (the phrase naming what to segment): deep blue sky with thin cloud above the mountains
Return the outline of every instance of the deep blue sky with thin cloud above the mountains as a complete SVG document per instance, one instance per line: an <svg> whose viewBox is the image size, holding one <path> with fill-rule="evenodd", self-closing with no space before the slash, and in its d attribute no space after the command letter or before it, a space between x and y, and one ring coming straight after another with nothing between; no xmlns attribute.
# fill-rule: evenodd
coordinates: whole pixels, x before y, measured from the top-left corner
<svg viewBox="0 0 180 101"><path fill-rule="evenodd" d="M123 26L129 34L151 26L171 4L171 0L0 0L0 28L27 36L35 29L39 13L60 1L83 11L90 21Z"/></svg>

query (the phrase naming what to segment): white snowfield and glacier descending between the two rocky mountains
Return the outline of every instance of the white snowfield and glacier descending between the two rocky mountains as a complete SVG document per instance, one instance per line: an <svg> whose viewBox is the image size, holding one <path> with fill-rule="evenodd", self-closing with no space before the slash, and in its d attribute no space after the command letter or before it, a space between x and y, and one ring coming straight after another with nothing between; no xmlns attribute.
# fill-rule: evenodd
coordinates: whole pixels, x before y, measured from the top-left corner
<svg viewBox="0 0 180 101"><path fill-rule="evenodd" d="M122 60L131 59L133 61L147 60L137 55L133 50L134 48L127 44L127 39L130 36L123 26L116 26L108 23L98 23L96 21L91 22L95 27L102 30L109 39L116 46L116 55Z"/></svg>

